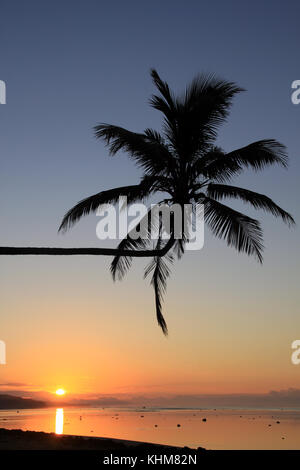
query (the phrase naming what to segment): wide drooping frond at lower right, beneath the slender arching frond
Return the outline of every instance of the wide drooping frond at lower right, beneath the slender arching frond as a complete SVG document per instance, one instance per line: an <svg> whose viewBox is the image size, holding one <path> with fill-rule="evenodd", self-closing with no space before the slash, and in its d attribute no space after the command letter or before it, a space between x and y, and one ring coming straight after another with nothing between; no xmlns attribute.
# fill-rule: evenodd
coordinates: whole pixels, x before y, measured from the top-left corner
<svg viewBox="0 0 300 470"><path fill-rule="evenodd" d="M253 255L262 263L263 243L260 223L214 199L202 195L205 222L212 233L240 252Z"/></svg>

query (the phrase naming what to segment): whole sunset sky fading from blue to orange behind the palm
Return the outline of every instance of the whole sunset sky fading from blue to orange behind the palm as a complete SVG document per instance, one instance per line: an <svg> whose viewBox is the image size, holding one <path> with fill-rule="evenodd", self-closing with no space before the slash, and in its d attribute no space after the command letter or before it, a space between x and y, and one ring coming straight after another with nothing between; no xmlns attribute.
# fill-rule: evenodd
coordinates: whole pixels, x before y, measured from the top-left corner
<svg viewBox="0 0 300 470"><path fill-rule="evenodd" d="M237 82L218 145L262 138L288 147L290 167L245 172L299 221L299 2L1 2L1 245L102 246L96 216L66 235L67 209L100 190L138 181L126 155L108 158L99 122L160 128L148 106L155 67L175 91L201 72ZM146 262L114 284L108 258L1 259L2 390L89 393L264 393L300 388L291 343L300 337L299 232L263 221L260 266L205 232L202 251L176 263L155 321Z"/></svg>

